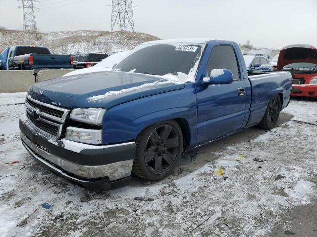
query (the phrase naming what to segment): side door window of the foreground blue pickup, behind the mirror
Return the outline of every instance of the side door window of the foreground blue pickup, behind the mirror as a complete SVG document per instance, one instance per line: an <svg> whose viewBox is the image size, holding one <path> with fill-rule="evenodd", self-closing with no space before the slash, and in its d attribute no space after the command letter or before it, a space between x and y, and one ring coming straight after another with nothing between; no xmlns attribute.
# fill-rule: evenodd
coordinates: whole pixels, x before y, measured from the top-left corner
<svg viewBox="0 0 317 237"><path fill-rule="evenodd" d="M212 49L207 64L208 77L212 69L228 69L232 72L233 79L240 79L238 62L232 46L219 45Z"/></svg>

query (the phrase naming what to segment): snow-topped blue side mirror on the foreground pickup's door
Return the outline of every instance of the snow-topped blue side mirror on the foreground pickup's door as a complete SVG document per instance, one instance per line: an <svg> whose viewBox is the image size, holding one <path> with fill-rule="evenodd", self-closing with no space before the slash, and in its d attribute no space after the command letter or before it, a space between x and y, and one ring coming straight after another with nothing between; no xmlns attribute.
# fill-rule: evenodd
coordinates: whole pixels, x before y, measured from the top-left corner
<svg viewBox="0 0 317 237"><path fill-rule="evenodd" d="M231 84L233 81L233 74L227 69L212 69L210 75L210 78L203 79L203 85Z"/></svg>

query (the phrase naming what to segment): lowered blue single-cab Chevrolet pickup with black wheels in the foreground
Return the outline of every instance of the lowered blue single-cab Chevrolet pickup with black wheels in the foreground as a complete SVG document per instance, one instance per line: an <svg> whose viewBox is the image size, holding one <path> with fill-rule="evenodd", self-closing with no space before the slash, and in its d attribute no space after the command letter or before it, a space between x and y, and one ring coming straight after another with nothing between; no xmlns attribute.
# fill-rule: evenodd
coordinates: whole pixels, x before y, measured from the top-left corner
<svg viewBox="0 0 317 237"><path fill-rule="evenodd" d="M276 125L290 101L291 74L249 75L232 41L146 42L110 72L32 85L19 122L22 144L89 190L127 185L131 172L157 181L183 151Z"/></svg>

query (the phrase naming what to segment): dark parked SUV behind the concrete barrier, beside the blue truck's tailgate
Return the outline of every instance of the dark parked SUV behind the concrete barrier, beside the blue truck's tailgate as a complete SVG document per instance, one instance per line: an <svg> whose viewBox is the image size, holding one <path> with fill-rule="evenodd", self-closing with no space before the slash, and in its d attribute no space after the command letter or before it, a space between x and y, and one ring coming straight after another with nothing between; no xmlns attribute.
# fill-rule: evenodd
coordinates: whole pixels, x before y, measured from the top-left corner
<svg viewBox="0 0 317 237"><path fill-rule="evenodd" d="M108 57L106 53L74 53L73 56L73 68L82 69L95 66L97 63Z"/></svg>

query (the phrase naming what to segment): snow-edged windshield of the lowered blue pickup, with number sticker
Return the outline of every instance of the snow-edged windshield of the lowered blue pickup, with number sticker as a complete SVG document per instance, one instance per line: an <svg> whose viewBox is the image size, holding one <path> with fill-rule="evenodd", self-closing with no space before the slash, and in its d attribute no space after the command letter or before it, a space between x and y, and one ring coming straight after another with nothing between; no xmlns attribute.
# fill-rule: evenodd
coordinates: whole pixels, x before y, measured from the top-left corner
<svg viewBox="0 0 317 237"><path fill-rule="evenodd" d="M195 76L205 44L141 44L113 71Z"/></svg>

